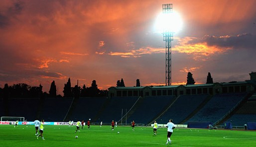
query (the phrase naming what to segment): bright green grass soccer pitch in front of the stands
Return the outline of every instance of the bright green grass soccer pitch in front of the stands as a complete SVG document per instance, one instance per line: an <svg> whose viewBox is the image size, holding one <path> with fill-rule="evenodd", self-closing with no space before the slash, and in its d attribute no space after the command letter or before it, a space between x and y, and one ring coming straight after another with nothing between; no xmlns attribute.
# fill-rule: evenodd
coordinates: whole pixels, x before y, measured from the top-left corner
<svg viewBox="0 0 256 147"><path fill-rule="evenodd" d="M87 126L75 133L76 126L44 125L44 138L36 139L33 125L0 125L0 147L255 147L256 131L176 128L171 145L166 145L167 128ZM118 132L120 132L118 134ZM76 139L75 136L78 136Z"/></svg>

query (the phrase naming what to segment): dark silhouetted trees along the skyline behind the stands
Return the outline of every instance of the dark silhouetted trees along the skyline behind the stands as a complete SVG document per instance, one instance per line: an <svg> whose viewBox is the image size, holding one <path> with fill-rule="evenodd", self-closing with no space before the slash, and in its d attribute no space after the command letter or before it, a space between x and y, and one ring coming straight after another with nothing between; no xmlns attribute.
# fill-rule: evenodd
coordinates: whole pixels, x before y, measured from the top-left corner
<svg viewBox="0 0 256 147"><path fill-rule="evenodd" d="M187 75L187 83L186 85L195 84L195 80L193 78L193 74L188 72ZM213 78L211 73L208 72L206 84L212 84ZM136 80L136 86L140 87L139 79ZM123 78L117 81L117 87L126 87ZM13 84L12 86L8 86L5 84L3 88L0 88L0 98L79 98L79 97L107 97L108 90L100 90L96 84L96 80L92 81L91 87L86 87L85 84L83 87L79 87L75 85L75 87L71 87L70 78L67 83L64 84L63 96L57 94L57 89L55 85L55 81L52 81L49 93L42 91L43 86L40 84L39 86L29 86L25 83Z"/></svg>

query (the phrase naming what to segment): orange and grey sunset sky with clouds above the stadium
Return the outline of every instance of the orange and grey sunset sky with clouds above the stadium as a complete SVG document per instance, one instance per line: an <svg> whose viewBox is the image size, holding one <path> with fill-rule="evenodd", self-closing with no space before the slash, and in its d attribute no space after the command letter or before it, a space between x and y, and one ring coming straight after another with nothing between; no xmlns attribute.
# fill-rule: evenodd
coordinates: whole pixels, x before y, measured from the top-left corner
<svg viewBox="0 0 256 147"><path fill-rule="evenodd" d="M256 72L256 0L1 0L0 88L26 83L62 95L96 80L106 90L165 85L165 42L156 30L172 3L182 28L172 41L172 85L249 80Z"/></svg>

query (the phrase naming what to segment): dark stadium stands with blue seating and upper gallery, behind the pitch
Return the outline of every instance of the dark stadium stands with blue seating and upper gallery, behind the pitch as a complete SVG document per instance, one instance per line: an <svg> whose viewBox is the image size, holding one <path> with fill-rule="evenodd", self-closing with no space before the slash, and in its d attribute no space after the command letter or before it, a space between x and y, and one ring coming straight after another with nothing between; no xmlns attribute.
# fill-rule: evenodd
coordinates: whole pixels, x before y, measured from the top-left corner
<svg viewBox="0 0 256 147"><path fill-rule="evenodd" d="M250 75L244 82L110 87L108 97L99 98L10 98L7 114L1 99L0 116L22 116L27 121L44 118L48 122L91 118L94 124L114 119L120 125L135 120L140 126L150 126L154 120L165 124L172 118L185 127L223 127L224 122L230 122L243 128L245 123L256 122L256 73ZM250 128L256 130L255 124Z"/></svg>

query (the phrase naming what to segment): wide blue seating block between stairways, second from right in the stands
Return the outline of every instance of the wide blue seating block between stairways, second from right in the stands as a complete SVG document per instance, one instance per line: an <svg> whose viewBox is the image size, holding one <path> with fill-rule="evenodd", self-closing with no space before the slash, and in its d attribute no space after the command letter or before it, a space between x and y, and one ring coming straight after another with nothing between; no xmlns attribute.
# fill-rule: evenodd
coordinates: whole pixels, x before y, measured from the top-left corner
<svg viewBox="0 0 256 147"><path fill-rule="evenodd" d="M208 103L188 121L216 123L232 108L245 98L246 93L215 95ZM185 124L187 124L187 122Z"/></svg>

